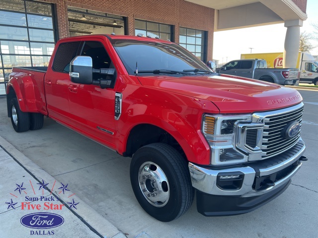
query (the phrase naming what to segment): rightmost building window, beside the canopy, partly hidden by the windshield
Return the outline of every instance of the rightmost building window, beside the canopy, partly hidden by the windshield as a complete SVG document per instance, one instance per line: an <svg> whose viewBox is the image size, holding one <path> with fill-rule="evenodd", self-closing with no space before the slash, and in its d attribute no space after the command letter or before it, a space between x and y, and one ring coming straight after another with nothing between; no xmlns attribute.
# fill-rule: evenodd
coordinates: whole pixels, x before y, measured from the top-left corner
<svg viewBox="0 0 318 238"><path fill-rule="evenodd" d="M206 61L206 32L180 27L179 44L202 61Z"/></svg>

